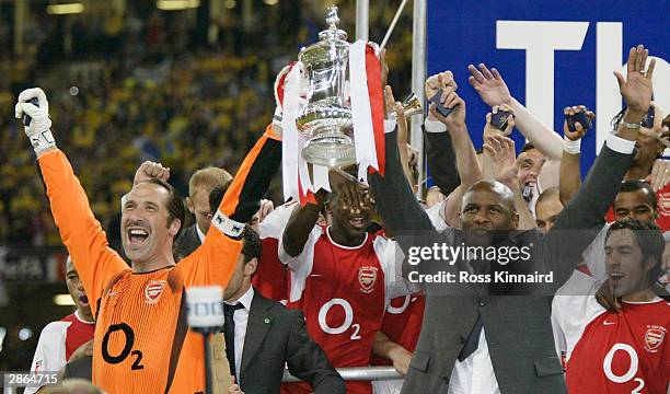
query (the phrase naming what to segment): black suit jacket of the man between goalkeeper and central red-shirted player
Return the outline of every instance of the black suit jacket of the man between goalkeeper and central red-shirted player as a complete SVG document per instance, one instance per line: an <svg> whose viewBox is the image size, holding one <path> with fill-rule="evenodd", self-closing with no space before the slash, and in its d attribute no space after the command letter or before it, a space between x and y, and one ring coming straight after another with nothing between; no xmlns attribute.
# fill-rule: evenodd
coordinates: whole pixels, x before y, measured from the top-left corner
<svg viewBox="0 0 670 394"><path fill-rule="evenodd" d="M242 363L241 389L246 394L279 393L285 363L314 393L345 393L342 376L307 333L304 316L254 290Z"/></svg>

